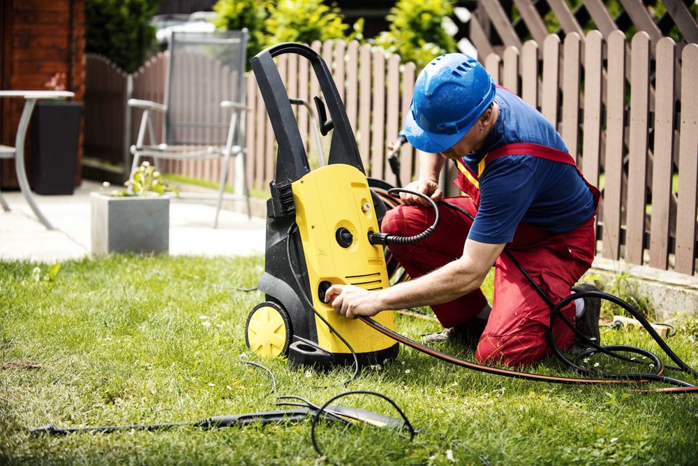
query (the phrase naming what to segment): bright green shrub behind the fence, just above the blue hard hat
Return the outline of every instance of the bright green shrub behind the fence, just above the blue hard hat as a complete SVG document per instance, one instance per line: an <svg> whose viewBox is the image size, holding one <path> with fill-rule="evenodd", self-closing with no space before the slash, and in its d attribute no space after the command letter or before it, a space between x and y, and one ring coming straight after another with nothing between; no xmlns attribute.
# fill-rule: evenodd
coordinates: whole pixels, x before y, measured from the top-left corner
<svg viewBox="0 0 698 466"><path fill-rule="evenodd" d="M452 14L452 0L399 0L387 15L389 30L371 43L421 70L433 57L456 51L455 39L442 26L443 18Z"/></svg>

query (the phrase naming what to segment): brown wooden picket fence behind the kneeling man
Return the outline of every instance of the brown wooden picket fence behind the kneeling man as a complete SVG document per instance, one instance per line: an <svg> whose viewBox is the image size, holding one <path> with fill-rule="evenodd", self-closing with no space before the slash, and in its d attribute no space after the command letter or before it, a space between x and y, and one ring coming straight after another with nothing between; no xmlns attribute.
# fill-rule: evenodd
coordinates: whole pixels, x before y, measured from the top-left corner
<svg viewBox="0 0 698 466"><path fill-rule="evenodd" d="M385 146L408 111L415 66L357 42L311 46L332 71L367 174L394 184ZM692 275L698 256L698 82L693 78L698 75L698 45L685 45L679 53L671 38L662 38L656 59L651 48L644 32L627 43L621 31L607 40L591 31L584 37L567 34L564 41L552 34L540 45L527 41L482 61L499 84L556 124L588 180L602 187L597 228L602 256ZM133 76L133 96L163 101L166 59L166 54L158 56ZM290 96L309 101L318 94L302 57L279 57L279 71ZM692 78L681 80L681 73ZM86 103L88 98L89 89ZM275 140L252 73L247 105L246 177L253 189L267 190L274 178ZM138 118L133 115L130 124ZM317 150L305 108L298 108L297 119L313 163ZM417 173L416 156L409 145L401 149L403 184ZM217 173L197 163L168 168L191 177ZM449 194L457 194L448 186Z"/></svg>

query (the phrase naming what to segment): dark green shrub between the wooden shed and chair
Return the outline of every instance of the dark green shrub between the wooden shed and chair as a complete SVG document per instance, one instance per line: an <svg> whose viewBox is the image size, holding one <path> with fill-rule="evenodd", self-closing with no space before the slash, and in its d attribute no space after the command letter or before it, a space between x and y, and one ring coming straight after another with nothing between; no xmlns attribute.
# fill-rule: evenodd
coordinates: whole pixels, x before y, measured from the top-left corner
<svg viewBox="0 0 698 466"><path fill-rule="evenodd" d="M86 0L85 52L133 73L155 50L150 20L157 10L158 0Z"/></svg>

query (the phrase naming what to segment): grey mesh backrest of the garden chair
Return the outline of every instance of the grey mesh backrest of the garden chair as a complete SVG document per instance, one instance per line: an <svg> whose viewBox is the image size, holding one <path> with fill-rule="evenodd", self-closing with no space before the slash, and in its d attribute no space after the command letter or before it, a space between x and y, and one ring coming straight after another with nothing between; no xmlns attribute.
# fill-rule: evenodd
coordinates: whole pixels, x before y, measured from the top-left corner
<svg viewBox="0 0 698 466"><path fill-rule="evenodd" d="M174 32L169 48L165 142L225 145L232 110L221 101L245 103L246 30ZM239 145L242 131L235 133Z"/></svg>

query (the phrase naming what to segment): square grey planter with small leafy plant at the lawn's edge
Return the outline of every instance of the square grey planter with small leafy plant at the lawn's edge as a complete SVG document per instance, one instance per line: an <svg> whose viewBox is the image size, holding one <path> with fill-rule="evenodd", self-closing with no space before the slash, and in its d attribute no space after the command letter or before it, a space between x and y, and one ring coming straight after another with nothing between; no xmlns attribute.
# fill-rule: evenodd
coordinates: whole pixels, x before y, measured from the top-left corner
<svg viewBox="0 0 698 466"><path fill-rule="evenodd" d="M126 182L126 189L91 193L92 253L169 252L170 193L179 196L147 161Z"/></svg>

